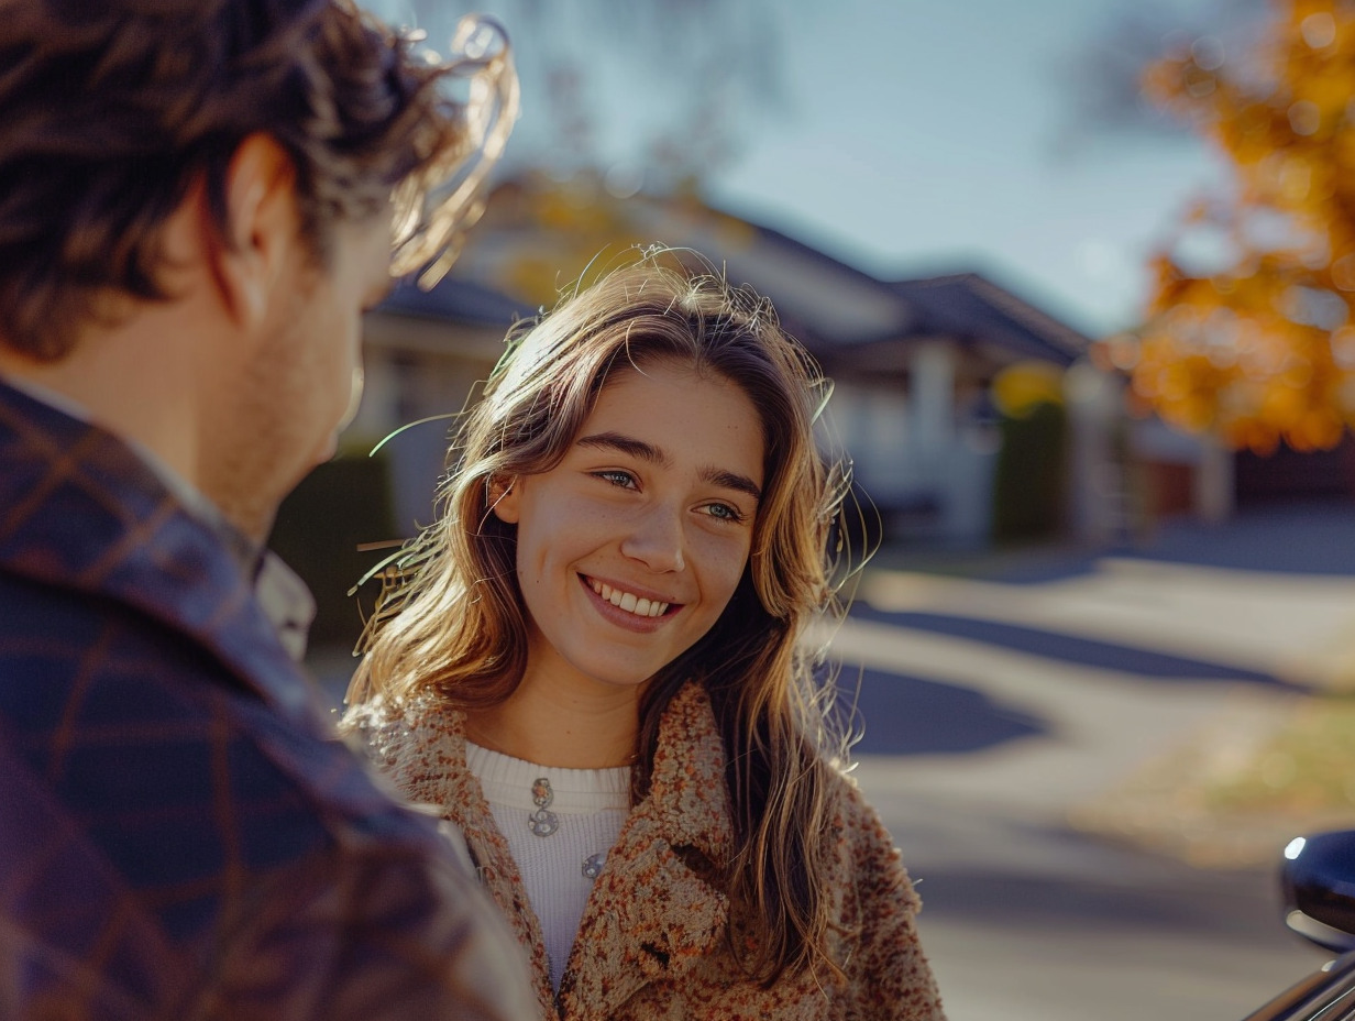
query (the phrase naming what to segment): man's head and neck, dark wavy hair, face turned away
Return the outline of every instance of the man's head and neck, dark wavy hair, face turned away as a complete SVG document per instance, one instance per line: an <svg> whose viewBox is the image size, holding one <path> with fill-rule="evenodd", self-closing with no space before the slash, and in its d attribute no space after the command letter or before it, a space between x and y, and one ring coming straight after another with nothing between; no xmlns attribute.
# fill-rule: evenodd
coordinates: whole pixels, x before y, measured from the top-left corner
<svg viewBox="0 0 1355 1021"><path fill-rule="evenodd" d="M95 418L266 526L341 418L392 224L417 220L392 197L421 206L476 149L439 91L463 69L352 0L0 0L0 365L95 404L103 351L134 351L123 372L192 391L203 435L160 449L168 416L114 397Z"/></svg>

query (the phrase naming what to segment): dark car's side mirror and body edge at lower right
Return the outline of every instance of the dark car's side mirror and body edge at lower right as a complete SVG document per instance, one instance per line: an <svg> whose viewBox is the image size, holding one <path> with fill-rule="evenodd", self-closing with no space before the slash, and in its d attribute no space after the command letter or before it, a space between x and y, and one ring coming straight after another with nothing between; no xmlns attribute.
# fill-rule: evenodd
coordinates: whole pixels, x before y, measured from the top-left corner
<svg viewBox="0 0 1355 1021"><path fill-rule="evenodd" d="M1285 923L1340 956L1245 1021L1355 1021L1355 830L1291 841L1280 881Z"/></svg>

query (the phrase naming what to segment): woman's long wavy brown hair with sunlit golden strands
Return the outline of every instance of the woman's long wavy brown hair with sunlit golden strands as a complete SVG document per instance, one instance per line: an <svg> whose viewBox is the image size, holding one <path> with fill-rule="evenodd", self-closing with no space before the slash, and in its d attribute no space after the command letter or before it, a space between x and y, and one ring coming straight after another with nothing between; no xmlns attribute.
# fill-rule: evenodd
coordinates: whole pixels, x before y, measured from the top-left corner
<svg viewBox="0 0 1355 1021"><path fill-rule="evenodd" d="M825 465L814 441L827 381L766 300L692 274L671 252L611 271L508 343L457 430L436 522L390 572L350 704L430 693L470 710L504 701L526 668L527 621L516 529L491 513L491 483L557 465L614 373L673 361L736 384L766 441L749 561L715 625L645 685L631 800L648 790L661 713L699 681L728 753L729 892L756 937L737 956L767 984L818 964L840 974L825 949L832 894L822 877L843 744L825 727L833 692L816 681L820 656L805 641L806 628L836 610L828 540L847 491L843 462Z"/></svg>

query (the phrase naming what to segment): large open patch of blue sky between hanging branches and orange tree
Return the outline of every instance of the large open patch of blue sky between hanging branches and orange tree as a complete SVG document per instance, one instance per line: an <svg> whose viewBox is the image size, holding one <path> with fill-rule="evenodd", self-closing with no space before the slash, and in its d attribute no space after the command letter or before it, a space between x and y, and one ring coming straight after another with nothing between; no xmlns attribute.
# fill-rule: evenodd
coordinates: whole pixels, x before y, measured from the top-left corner
<svg viewBox="0 0 1355 1021"><path fill-rule="evenodd" d="M1112 4L835 8L786 35L787 66L814 50L844 60L794 83L794 118L759 130L714 182L717 203L877 275L977 268L1084 329L1131 324L1145 256L1220 168L1188 137L1060 145L1076 122L1060 69Z"/></svg>

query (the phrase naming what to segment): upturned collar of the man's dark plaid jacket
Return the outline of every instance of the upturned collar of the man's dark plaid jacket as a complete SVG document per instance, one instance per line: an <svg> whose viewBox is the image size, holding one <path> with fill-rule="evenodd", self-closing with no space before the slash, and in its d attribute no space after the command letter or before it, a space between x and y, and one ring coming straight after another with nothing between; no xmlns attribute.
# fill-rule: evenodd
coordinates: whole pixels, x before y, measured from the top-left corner
<svg viewBox="0 0 1355 1021"><path fill-rule="evenodd" d="M0 507L0 569L186 632L276 710L322 729L225 538L115 435L3 382Z"/></svg>

